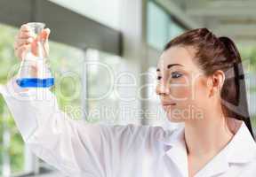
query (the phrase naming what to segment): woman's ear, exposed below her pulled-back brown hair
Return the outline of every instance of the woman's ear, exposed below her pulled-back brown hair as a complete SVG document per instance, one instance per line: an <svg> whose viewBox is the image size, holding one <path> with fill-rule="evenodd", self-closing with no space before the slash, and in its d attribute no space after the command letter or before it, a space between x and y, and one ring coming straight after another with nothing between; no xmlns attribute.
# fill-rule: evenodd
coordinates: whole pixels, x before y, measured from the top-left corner
<svg viewBox="0 0 256 177"><path fill-rule="evenodd" d="M220 95L220 90L225 81L225 73L221 70L217 70L208 79L208 86L210 87L209 96L214 96L216 94Z"/></svg>

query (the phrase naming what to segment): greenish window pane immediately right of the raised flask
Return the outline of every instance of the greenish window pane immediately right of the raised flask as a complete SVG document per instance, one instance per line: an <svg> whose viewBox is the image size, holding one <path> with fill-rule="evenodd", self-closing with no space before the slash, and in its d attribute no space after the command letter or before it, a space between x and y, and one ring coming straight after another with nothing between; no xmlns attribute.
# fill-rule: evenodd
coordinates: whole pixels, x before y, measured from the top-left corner
<svg viewBox="0 0 256 177"><path fill-rule="evenodd" d="M52 88L61 110L72 119L82 119L84 51L74 47L50 42L50 64L55 78Z"/></svg>

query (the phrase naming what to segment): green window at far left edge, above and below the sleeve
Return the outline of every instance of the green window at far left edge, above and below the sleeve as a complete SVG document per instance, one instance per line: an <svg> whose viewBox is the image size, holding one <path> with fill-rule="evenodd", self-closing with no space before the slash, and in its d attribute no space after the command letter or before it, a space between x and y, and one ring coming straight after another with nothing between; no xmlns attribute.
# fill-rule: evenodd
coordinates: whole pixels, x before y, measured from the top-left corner
<svg viewBox="0 0 256 177"><path fill-rule="evenodd" d="M0 24L0 84L5 84L9 71L18 65L13 54L14 36L17 29ZM0 175L10 176L11 173L25 171L24 144L15 126L4 98L0 96Z"/></svg>

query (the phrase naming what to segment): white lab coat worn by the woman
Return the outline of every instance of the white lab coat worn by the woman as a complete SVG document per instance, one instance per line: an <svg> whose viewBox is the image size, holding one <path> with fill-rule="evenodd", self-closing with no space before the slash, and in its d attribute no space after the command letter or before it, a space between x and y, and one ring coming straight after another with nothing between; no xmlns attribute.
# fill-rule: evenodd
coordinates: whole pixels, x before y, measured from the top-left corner
<svg viewBox="0 0 256 177"><path fill-rule="evenodd" d="M171 131L91 125L68 119L48 89L24 91L11 80L1 92L24 142L68 176L188 177L184 127ZM244 123L225 149L196 173L210 176L256 176L256 144Z"/></svg>

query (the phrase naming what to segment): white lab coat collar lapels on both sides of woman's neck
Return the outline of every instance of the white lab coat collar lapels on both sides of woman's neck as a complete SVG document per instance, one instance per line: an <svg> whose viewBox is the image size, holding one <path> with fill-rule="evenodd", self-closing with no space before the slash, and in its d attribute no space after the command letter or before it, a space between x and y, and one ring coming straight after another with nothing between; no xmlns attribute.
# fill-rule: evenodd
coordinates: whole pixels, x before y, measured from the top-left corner
<svg viewBox="0 0 256 177"><path fill-rule="evenodd" d="M172 135L164 137L165 154L178 166L183 176L188 176L188 155L184 138L184 127L173 131ZM224 173L231 164L244 164L256 159L256 143L248 128L241 121L241 126L228 145L200 170L197 176L212 176Z"/></svg>

